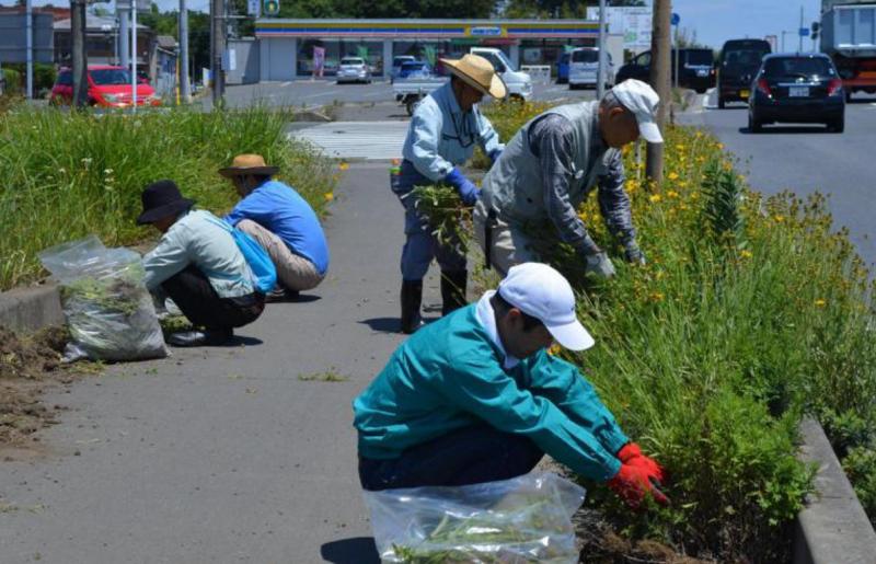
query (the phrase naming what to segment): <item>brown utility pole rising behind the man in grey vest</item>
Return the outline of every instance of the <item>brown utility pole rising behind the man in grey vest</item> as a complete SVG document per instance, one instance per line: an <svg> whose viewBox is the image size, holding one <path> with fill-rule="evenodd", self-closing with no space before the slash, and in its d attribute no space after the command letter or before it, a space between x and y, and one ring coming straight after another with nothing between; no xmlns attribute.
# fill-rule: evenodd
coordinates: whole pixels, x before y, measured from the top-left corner
<svg viewBox="0 0 876 564"><path fill-rule="evenodd" d="M657 126L662 129L666 124L666 114L671 100L669 84L669 57L670 57L670 0L654 0L653 31L650 36L650 84L660 96L657 106ZM645 176L659 184L664 180L664 145L648 143L647 159L645 161Z"/></svg>

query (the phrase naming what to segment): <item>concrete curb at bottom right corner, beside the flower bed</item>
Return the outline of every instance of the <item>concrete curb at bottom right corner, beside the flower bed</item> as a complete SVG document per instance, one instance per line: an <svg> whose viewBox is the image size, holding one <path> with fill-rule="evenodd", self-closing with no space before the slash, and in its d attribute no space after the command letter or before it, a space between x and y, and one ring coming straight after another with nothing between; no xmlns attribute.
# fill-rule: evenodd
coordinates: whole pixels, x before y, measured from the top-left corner
<svg viewBox="0 0 876 564"><path fill-rule="evenodd" d="M821 425L800 423L799 458L818 464L816 494L797 516L794 564L863 564L876 557L876 532Z"/></svg>

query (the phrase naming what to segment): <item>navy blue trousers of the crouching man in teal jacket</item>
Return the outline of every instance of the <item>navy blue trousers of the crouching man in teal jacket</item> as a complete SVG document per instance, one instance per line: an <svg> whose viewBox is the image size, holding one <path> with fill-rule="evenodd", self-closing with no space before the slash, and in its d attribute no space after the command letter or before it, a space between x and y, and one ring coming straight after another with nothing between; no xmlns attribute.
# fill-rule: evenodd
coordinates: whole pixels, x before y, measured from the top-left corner
<svg viewBox="0 0 876 564"><path fill-rule="evenodd" d="M411 447L400 458L360 456L359 481L370 491L481 484L529 473L543 456L522 435L479 424Z"/></svg>

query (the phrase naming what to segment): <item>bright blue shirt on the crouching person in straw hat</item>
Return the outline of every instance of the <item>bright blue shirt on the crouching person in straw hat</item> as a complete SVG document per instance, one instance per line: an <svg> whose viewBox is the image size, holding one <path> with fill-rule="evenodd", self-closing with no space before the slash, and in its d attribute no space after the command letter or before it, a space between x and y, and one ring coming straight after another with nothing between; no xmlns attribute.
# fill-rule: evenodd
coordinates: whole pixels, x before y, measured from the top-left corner
<svg viewBox="0 0 876 564"><path fill-rule="evenodd" d="M291 252L303 256L321 275L328 269L328 243L313 208L291 186L267 181L241 199L226 221L250 219L276 234Z"/></svg>

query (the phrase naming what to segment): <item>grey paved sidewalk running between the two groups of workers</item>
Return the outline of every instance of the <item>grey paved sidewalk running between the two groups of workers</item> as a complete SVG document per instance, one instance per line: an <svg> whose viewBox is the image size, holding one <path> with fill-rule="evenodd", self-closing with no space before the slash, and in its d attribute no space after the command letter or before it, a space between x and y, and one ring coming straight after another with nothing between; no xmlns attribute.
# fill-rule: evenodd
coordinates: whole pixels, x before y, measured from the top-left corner
<svg viewBox="0 0 876 564"><path fill-rule="evenodd" d="M43 435L50 456L0 463L0 561L377 561L350 401L402 341L387 169L350 166L326 222L328 278L269 304L241 346L113 366L46 399L71 411ZM433 274L427 308L437 287ZM328 371L348 380L320 381Z"/></svg>

